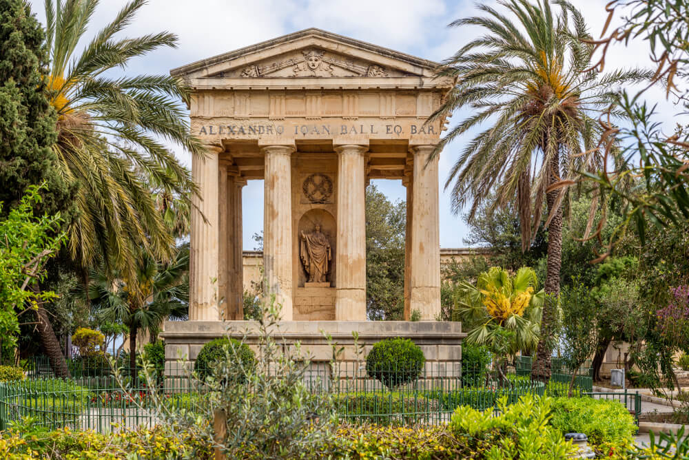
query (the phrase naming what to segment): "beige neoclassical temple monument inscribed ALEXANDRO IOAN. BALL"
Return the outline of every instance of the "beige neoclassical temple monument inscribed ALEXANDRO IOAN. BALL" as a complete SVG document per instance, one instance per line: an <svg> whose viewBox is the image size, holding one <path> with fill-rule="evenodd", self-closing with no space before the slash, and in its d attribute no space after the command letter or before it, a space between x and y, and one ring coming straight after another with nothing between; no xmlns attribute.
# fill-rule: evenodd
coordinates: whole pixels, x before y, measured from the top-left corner
<svg viewBox="0 0 689 460"><path fill-rule="evenodd" d="M458 359L460 325L440 313L438 160L442 121L426 123L453 86L436 63L318 29L172 70L194 88L188 322L165 326L168 359L243 320L242 187L263 179L264 289L282 305L284 337L311 343L320 329L364 342L413 336L426 355ZM364 188L407 187L404 314L422 322L367 322ZM225 320L225 322L223 322ZM452 346L456 346L453 351ZM444 352L438 355L440 348ZM433 359L433 357L429 357Z"/></svg>

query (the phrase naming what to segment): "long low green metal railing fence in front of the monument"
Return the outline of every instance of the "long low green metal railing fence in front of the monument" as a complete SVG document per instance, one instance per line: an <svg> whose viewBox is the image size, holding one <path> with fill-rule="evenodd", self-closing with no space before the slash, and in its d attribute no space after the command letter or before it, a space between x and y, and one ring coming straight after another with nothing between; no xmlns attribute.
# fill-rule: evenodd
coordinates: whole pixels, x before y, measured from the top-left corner
<svg viewBox="0 0 689 460"><path fill-rule="evenodd" d="M136 375L122 370L124 375ZM398 370L389 370L396 373ZM207 412L207 387L184 364L167 364L167 376L156 379L155 391L143 379L123 390L109 369L80 369L72 379L37 377L0 384L0 430L12 421L32 417L47 428L68 426L75 430L105 432L121 427L153 426L166 410L184 408ZM363 364L345 362L311 364L304 382L312 393L329 393L338 417L349 421L380 424L436 424L449 421L458 406L493 410L500 397L509 403L527 394L567 395L571 377L554 378L544 384L524 375L524 367L491 366L466 368L444 363L426 363L418 377L391 379L404 382L387 388L367 374ZM575 386L575 395L588 387ZM251 393L251 388L245 388Z"/></svg>

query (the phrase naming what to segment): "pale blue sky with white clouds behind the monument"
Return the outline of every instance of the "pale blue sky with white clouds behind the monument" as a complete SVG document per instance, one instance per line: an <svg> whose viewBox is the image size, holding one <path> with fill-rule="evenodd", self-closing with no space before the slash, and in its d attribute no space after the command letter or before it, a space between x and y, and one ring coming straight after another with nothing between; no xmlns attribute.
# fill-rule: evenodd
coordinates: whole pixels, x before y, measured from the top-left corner
<svg viewBox="0 0 689 460"><path fill-rule="evenodd" d="M606 19L608 0L571 0L582 11L593 36L599 36ZM32 10L45 23L43 1L32 0ZM497 1L484 3L495 6ZM112 20L125 4L121 0L103 0L96 9L94 29ZM123 36L140 36L168 30L178 35L176 49L160 49L133 60L127 74L167 74L170 69L217 54L243 48L260 41L311 27L353 39L367 41L431 61L442 61L473 37L477 28L448 28L454 19L479 14L473 1L465 0L150 0ZM614 24L613 24L614 25ZM622 67L648 67L647 45L636 42L628 47L617 45L606 59L606 70ZM648 97L660 101L659 110L666 120L679 110L664 101L662 90L651 90ZM451 124L471 112L462 110ZM471 132L448 145L440 156L440 246L464 247L468 228L461 215L451 213L449 193L444 184L451 165ZM190 156L172 147L187 166ZM399 180L373 180L391 200L404 200L406 191ZM252 180L243 191L244 249L254 249L251 239L263 229L263 181Z"/></svg>

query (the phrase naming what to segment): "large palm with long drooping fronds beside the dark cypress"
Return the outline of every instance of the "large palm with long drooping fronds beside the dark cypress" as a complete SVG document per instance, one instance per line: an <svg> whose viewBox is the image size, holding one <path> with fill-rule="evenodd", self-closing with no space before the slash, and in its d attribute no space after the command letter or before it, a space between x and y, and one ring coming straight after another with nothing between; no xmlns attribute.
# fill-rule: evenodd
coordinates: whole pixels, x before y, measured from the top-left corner
<svg viewBox="0 0 689 460"><path fill-rule="evenodd" d="M170 76L114 77L108 72L158 48L176 46L177 38L169 32L116 38L144 3L127 3L76 54L99 1L45 0L47 86L58 114L54 151L62 174L79 185L67 247L84 278L89 267L102 260L106 270L136 280L140 248L155 260L169 260L174 237L147 184L187 200L195 191L189 171L164 144L181 145L194 155L203 153L198 139L189 134L185 117L183 102L189 89ZM45 315L43 322L48 321ZM41 339L54 342L54 337ZM51 356L51 362L64 362L59 348L51 349L51 354L60 355Z"/></svg>

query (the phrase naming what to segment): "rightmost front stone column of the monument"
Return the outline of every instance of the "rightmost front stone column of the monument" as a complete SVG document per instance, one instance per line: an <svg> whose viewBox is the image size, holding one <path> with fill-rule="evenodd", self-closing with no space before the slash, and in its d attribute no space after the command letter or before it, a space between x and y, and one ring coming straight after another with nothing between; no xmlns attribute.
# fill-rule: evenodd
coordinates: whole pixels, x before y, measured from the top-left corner
<svg viewBox="0 0 689 460"><path fill-rule="evenodd" d="M415 145L411 215L411 309L421 320L440 315L440 215L438 156L426 165L434 145Z"/></svg>

